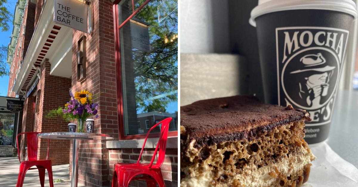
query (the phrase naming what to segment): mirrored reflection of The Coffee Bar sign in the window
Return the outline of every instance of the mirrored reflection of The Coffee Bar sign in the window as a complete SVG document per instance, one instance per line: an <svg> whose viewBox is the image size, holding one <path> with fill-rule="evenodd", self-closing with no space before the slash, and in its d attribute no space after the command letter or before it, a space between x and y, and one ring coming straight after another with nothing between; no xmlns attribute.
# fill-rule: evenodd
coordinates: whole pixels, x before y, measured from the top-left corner
<svg viewBox="0 0 358 187"><path fill-rule="evenodd" d="M146 26L130 22L131 25L131 41L132 48L136 48L141 51L150 51L149 43L149 31Z"/></svg>

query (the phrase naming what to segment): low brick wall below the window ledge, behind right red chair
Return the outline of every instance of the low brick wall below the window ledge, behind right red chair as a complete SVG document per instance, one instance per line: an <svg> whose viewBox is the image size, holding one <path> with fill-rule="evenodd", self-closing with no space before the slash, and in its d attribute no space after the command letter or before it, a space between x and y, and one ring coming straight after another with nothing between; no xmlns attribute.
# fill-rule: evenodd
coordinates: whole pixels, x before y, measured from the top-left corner
<svg viewBox="0 0 358 187"><path fill-rule="evenodd" d="M141 163L150 163L154 150L154 148L146 148L142 154ZM137 162L140 151L141 149L138 148L110 149L110 177L113 176L115 163L135 163ZM156 159L154 160L154 163L155 162ZM164 163L161 166L161 172L163 173L166 187L178 186L178 149L166 149ZM131 181L130 185L134 187L143 187L146 186L146 183L141 181Z"/></svg>

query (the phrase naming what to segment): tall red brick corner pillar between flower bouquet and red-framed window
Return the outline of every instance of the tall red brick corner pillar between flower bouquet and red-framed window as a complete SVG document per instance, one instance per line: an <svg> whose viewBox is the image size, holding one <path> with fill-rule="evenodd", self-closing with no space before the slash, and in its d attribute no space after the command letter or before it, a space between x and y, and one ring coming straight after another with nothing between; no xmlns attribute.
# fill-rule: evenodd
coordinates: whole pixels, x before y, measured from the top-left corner
<svg viewBox="0 0 358 187"><path fill-rule="evenodd" d="M86 89L100 94L94 100L99 104L94 132L118 137L113 4L108 0L93 0L91 3L94 10L92 33L73 30L72 91ZM84 81L77 82L77 41L83 35L87 37L87 74ZM71 167L70 161L70 174ZM106 142L80 141L78 182L87 186L106 186L110 184L109 178Z"/></svg>

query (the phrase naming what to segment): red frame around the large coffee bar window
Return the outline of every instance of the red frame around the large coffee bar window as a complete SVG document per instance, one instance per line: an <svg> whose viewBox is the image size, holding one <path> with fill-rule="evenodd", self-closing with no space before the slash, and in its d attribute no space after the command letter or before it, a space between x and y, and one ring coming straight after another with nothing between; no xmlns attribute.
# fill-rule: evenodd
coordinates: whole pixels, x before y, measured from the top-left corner
<svg viewBox="0 0 358 187"><path fill-rule="evenodd" d="M134 0L132 0L133 13L120 25L118 20L118 3L121 0L115 0L113 2L113 22L115 30L115 61L116 61L116 77L117 77L117 108L118 108L118 138L119 139L144 139L146 134L137 135L124 135L124 108L123 108L123 90L122 90L122 64L121 64L121 45L120 45L120 29L128 23L145 5L151 0L146 0L136 10L134 10ZM149 134L150 138L158 138L160 133ZM178 136L178 131L168 132L168 137Z"/></svg>

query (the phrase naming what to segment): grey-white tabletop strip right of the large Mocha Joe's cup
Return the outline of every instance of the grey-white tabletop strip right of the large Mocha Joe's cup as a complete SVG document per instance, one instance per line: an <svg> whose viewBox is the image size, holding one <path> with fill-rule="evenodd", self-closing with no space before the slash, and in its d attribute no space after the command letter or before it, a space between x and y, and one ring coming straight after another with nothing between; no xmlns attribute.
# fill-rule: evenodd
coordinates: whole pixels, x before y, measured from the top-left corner
<svg viewBox="0 0 358 187"><path fill-rule="evenodd" d="M338 91L328 145L340 157L358 167L358 91Z"/></svg>

